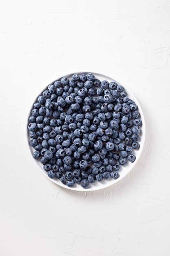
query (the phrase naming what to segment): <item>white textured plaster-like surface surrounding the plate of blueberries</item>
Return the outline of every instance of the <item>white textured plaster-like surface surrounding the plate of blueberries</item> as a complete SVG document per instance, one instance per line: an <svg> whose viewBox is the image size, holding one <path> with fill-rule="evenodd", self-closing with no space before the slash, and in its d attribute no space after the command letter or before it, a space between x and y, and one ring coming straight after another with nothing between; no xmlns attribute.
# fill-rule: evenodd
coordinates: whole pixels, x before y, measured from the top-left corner
<svg viewBox="0 0 170 256"><path fill-rule="evenodd" d="M143 154L115 186L50 182L26 141L35 96L78 71L112 76L146 117ZM0 255L170 255L170 0L0 5Z"/></svg>

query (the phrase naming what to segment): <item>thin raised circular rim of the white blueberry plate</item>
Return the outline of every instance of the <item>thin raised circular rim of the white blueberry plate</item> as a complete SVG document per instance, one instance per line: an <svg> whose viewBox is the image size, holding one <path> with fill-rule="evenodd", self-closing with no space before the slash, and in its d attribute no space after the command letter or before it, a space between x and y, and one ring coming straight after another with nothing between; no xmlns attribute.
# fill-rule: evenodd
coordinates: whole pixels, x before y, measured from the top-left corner
<svg viewBox="0 0 170 256"><path fill-rule="evenodd" d="M79 75L79 74L88 74L88 73L92 73L92 74L94 74L95 76L104 76L106 79L108 78L108 79L110 79L110 80L115 81L117 84L122 85L122 84L119 83L117 80L113 79L111 76L104 75L104 74L97 73L97 72L74 72L74 73L69 73L69 74L65 74L65 75L63 75L63 76L60 76L59 78L55 79L55 81L60 80L60 79L61 79L62 77L64 77L64 76L65 76L65 77L68 77L68 76L72 76L73 74L78 74L78 75ZM53 82L51 82L51 83L49 83L49 84L53 84L53 83L55 83L55 81L53 81ZM145 139L146 139L146 122L145 122L144 113L143 113L143 111L142 111L142 108L141 108L141 106L140 106L139 101L137 100L137 98L135 97L135 95L131 92L131 90L129 90L129 89L126 87L126 85L122 85L122 86L125 88L126 91L129 92L130 96L132 97L132 100L135 101L135 103L137 104L138 108L140 109L139 113L140 113L140 115L141 115L141 120L142 120L142 137L143 137L143 143L140 144L140 153L137 154L136 159L135 159L135 162L130 163L130 164L132 164L132 167L130 167L130 170L129 170L127 173L125 173L125 174L122 173L122 175L119 176L118 179L116 179L116 180L113 179L113 180L112 180L113 182L109 182L109 181L106 182L106 184L104 184L103 187L97 187L97 186L93 186L93 185L92 185L90 188L84 189L84 188L82 188L82 186L79 185L77 188L75 188L75 187L68 187L68 186L62 184L61 182L56 182L57 180L51 179L51 178L47 175L47 172L44 171L42 168L40 168L40 166L38 165L38 161L32 157L33 161L34 161L35 164L38 166L38 169L41 171L41 173L43 173L43 175L44 175L45 177L47 177L47 178L48 178L49 180L51 180L53 183L55 183L55 184L58 185L58 186L61 186L61 187L64 188L64 189L69 189L69 190L78 191L78 192L87 192L87 191L97 191L97 190L101 190L101 189L106 189L106 188L108 188L109 186L113 186L113 185L115 185L117 182L121 181L124 177L126 177L126 175L128 175L128 173L130 173L130 172L132 171L132 169L136 166L136 164L137 164L139 158L141 157L141 153L142 153L143 148L144 148ZM46 90L47 87L48 87L48 85L45 86L45 88L44 88L38 95L41 95L42 92L43 92L44 90ZM27 143L28 143L27 145L28 145L28 147L29 147L29 151L30 151L31 155L32 155L32 148L33 148L33 147L29 144L29 130L28 130L29 121L28 121L28 118L29 118L30 113L31 113L31 110L32 110L32 108L33 108L33 104L37 101L37 98L38 98L38 96L37 96L37 97L35 98L35 100L33 101L32 105L31 105L31 108L29 108L28 115L27 115L27 117L26 117L26 138L27 138ZM125 166L124 168L126 168L126 166Z"/></svg>

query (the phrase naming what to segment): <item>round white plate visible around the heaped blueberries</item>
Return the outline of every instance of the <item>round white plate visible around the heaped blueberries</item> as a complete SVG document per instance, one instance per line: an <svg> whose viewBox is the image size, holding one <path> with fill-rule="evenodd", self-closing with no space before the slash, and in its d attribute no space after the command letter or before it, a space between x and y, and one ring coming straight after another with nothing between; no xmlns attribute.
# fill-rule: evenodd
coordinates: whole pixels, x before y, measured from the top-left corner
<svg viewBox="0 0 170 256"><path fill-rule="evenodd" d="M79 73L77 73L77 74L88 74L88 73L90 73L90 72L79 72ZM75 74L75 73L74 73ZM96 79L99 79L100 81L103 81L103 80L107 80L109 83L111 82L111 81L115 81L114 79L112 79L112 78L110 78L110 77L108 77L108 76L104 76L104 75L102 75L102 74L97 74L97 73L93 73L94 75L95 75L95 78ZM72 76L73 74L68 74L68 75L64 75L65 77L67 77L68 79L71 79L71 76ZM59 78L57 78L55 81L57 81L57 80L60 80L62 77L59 77ZM115 81L115 82L117 82L117 81ZM54 82L53 82L54 83ZM51 83L51 84L53 84L53 83ZM117 82L118 83L118 82ZM120 83L118 83L119 85L120 85ZM143 147L144 147L144 141L145 141L145 133L146 133L146 128L145 128L145 120L144 120L144 114L143 114L143 112L142 112L142 109L141 109L141 106L140 106L140 104L139 104L139 102L137 101L137 99L136 99L136 97L132 94L132 92L130 92L130 90L128 89L128 88L126 88L126 86L124 86L124 85L122 85L123 87L124 87L124 89L126 90L126 92L127 92L127 96L130 98L130 99L132 99L133 101L135 101L135 103L137 104L137 106L138 106L138 110L139 110L139 113L140 113L140 118L141 118L141 120L142 120L142 126L141 126L141 132L140 132L140 140L139 140L139 144L140 144L140 148L138 149L138 150L134 150L134 153L135 153L135 156L136 156L136 160L135 160L135 162L133 162L133 163L130 163L130 162L128 162L128 164L126 164L126 166L121 166L121 169L120 169L120 171L119 171L119 178L117 179L117 180L113 180L112 178L110 178L109 180L102 180L102 182L95 182L95 183L93 183L93 184L89 184L89 186L88 186L88 188L87 189L83 189L82 188L82 186L80 186L80 184L75 184L73 187L68 187L68 186L66 186L66 185L64 185L64 184L62 184L61 182L60 182L60 180L58 180L57 178L55 178L55 179L51 179L51 178L49 178L49 176L47 175L47 173L46 173L46 171L44 171L44 169L43 169L43 165L41 164L41 162L39 161L39 160L36 160L36 159L34 159L33 158L33 160L35 161L35 163L37 164L37 166L38 166L38 168L40 169L40 171L49 179L49 180L51 180L52 182L54 182L55 184L57 184L57 185L59 185L59 186L62 186L62 187L64 187L64 188L66 188L66 189L71 189L71 190L75 190L75 191L94 191L94 190L98 190L98 189L104 189L104 188L106 188L106 187L108 187L108 186L111 186L111 185L113 185L113 184L115 184L115 183L117 183L117 182L119 182L121 179L123 179L131 170L132 170L132 168L135 166L135 164L137 163L137 161L138 161L138 159L139 159L139 157L140 157L140 155L141 155L141 152L142 152L142 149L143 149ZM48 87L48 86L47 86ZM43 88L43 91L44 90L46 90L47 89L47 87L46 88ZM43 92L42 91L42 92ZM42 94L42 92L40 93L40 94ZM39 95L40 95L39 94ZM38 97L37 97L38 98ZM37 98L35 99L35 102L37 101ZM34 102L34 103L35 103ZM32 106L33 106L33 104L32 104ZM31 106L31 110L32 110L32 106ZM31 110L30 110L30 112L29 112L29 116L31 115L30 113L31 113ZM27 123L27 127L28 127L28 124L29 123ZM29 144L29 131L28 131L28 128L26 127L26 130L27 130L27 139L28 139L28 144ZM33 149L33 147L31 147L30 145L29 145L29 149L30 149L30 151L31 151L31 154L33 154L33 152L34 152L34 149Z"/></svg>

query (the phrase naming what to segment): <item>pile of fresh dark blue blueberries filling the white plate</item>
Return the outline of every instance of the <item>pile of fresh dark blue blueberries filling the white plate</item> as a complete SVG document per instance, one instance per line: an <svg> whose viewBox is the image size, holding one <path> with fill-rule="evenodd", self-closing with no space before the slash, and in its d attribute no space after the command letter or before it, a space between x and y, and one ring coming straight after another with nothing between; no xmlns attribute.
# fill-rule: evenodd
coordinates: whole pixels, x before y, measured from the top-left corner
<svg viewBox="0 0 170 256"><path fill-rule="evenodd" d="M48 86L29 117L33 157L69 187L117 179L139 148L139 112L116 82L73 74Z"/></svg>

